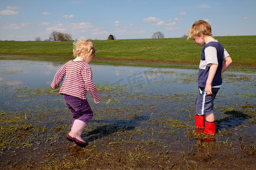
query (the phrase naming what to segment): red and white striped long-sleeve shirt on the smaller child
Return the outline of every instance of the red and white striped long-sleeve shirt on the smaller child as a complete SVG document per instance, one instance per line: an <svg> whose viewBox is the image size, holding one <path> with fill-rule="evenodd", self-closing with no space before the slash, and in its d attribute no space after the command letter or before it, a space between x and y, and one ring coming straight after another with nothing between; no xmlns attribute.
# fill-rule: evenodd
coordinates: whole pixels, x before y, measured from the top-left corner
<svg viewBox="0 0 256 170"><path fill-rule="evenodd" d="M59 88L62 80L65 80L60 88L60 94L78 97L87 100L86 92L92 96L94 103L100 103L101 96L92 82L92 69L83 61L68 61L55 74L51 83L53 89Z"/></svg>

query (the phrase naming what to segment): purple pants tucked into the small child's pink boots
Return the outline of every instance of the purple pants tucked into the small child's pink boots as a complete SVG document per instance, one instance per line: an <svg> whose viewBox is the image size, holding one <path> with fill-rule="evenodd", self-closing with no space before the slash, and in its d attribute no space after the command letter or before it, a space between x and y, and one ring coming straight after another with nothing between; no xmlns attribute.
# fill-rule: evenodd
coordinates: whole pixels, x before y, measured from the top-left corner
<svg viewBox="0 0 256 170"><path fill-rule="evenodd" d="M93 111L90 108L87 100L82 100L74 96L64 95L64 101L69 109L69 112L73 116L72 126L76 119L83 121L86 124L89 123L93 117Z"/></svg>

